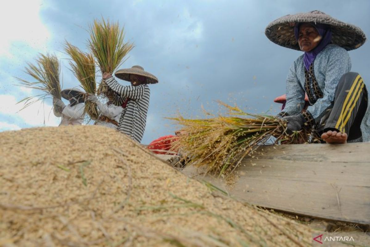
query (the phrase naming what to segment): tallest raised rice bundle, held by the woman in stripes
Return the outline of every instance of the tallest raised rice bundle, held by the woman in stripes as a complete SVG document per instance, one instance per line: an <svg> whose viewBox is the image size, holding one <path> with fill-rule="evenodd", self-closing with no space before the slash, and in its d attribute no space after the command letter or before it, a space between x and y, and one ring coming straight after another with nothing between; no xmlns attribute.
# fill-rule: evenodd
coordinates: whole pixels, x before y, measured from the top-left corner
<svg viewBox="0 0 370 247"><path fill-rule="evenodd" d="M124 42L124 29L120 29L117 23L111 23L109 20L94 20L90 26L89 47L97 59L101 73L112 74L122 63L127 53L134 48L133 43ZM102 80L99 84L98 95L104 95L114 99L115 93L107 83Z"/></svg>

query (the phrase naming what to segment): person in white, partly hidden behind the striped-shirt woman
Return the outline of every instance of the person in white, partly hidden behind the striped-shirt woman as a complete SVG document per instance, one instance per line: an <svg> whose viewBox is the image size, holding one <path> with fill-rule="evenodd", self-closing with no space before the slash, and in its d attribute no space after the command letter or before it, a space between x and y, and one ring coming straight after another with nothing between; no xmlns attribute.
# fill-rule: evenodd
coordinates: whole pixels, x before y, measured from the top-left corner
<svg viewBox="0 0 370 247"><path fill-rule="evenodd" d="M86 101L93 102L97 105L100 114L95 121L95 125L105 126L117 129L118 122L122 113L122 106L115 106L111 100L107 103L101 103L94 94L87 94Z"/></svg>

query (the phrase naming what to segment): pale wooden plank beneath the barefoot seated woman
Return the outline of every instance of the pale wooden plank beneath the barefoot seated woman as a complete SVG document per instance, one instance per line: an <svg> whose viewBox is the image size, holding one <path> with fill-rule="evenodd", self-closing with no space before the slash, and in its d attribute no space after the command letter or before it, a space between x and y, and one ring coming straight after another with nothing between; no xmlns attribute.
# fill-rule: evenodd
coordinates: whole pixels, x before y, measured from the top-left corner
<svg viewBox="0 0 370 247"><path fill-rule="evenodd" d="M194 167L183 172L258 206L370 224L369 151L370 143L264 146L243 160L231 187Z"/></svg>

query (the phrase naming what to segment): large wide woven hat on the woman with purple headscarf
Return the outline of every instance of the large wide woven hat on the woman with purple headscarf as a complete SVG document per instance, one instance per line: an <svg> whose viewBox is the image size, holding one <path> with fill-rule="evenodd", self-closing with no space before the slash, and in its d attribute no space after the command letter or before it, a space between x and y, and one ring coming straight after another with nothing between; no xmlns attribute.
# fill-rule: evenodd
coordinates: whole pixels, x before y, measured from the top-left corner
<svg viewBox="0 0 370 247"><path fill-rule="evenodd" d="M294 36L294 26L299 22L329 25L332 29L332 43L347 51L359 48L366 41L366 36L359 27L334 19L319 10L280 17L266 27L265 34L275 44L300 50Z"/></svg>

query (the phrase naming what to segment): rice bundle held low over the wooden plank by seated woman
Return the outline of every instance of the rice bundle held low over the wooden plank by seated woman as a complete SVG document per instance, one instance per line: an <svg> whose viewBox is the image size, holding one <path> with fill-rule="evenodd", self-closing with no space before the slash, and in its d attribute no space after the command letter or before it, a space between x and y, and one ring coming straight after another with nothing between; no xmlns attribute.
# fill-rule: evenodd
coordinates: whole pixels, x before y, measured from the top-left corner
<svg viewBox="0 0 370 247"><path fill-rule="evenodd" d="M181 150L182 156L189 158L188 165L206 166L207 172L228 175L244 157L251 156L263 144L298 144L312 138L306 128L288 134L285 121L274 116L249 114L219 103L228 108L229 116L171 118L184 126L171 149Z"/></svg>

